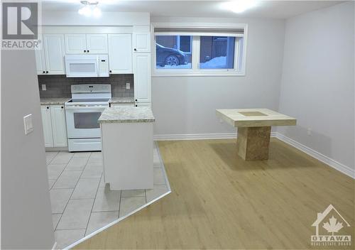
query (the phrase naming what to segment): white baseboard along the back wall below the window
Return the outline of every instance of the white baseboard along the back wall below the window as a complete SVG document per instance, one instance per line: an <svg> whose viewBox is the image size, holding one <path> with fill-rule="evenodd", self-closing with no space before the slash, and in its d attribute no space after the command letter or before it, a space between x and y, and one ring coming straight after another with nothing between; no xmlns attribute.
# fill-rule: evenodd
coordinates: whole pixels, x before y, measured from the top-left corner
<svg viewBox="0 0 355 250"><path fill-rule="evenodd" d="M271 137L275 137L275 132L271 132ZM207 139L233 139L236 133L220 134L155 134L155 141L185 141L185 140L207 140Z"/></svg>

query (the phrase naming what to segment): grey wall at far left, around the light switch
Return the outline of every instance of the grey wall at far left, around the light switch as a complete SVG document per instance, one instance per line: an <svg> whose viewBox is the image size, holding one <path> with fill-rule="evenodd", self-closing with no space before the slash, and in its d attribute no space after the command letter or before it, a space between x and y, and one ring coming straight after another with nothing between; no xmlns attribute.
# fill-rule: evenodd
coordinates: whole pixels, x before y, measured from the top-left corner
<svg viewBox="0 0 355 250"><path fill-rule="evenodd" d="M55 242L35 54L1 51L1 249L52 249ZM33 115L27 136L23 116Z"/></svg>

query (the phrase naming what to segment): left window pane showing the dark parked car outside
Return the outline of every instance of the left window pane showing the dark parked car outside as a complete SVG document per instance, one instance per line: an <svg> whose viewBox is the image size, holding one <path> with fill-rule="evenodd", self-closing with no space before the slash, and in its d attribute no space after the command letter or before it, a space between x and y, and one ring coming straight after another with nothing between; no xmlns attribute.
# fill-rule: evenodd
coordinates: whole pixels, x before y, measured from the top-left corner
<svg viewBox="0 0 355 250"><path fill-rule="evenodd" d="M155 36L157 69L191 69L192 36Z"/></svg>

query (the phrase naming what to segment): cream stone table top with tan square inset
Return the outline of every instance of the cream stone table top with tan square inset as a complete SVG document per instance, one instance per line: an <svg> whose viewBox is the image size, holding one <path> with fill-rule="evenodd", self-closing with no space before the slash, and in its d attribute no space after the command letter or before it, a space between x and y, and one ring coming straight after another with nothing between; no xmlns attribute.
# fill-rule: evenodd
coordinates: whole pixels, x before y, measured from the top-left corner
<svg viewBox="0 0 355 250"><path fill-rule="evenodd" d="M297 121L271 109L216 109L216 114L234 127L294 126Z"/></svg>

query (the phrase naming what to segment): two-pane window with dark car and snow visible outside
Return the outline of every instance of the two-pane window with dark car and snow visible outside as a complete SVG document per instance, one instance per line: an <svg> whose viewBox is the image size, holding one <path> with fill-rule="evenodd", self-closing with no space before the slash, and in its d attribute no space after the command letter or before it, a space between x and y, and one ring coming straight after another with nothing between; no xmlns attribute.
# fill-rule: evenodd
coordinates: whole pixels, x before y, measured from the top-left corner
<svg viewBox="0 0 355 250"><path fill-rule="evenodd" d="M245 29L155 24L153 75L244 75Z"/></svg>

